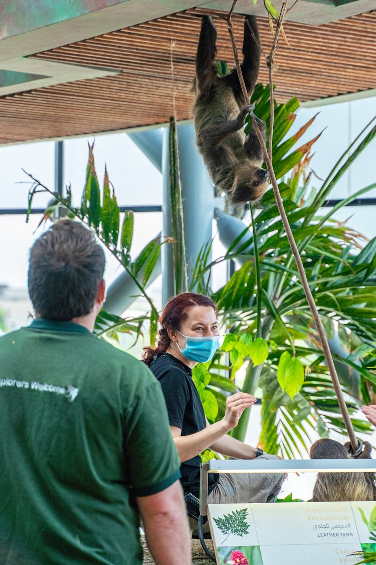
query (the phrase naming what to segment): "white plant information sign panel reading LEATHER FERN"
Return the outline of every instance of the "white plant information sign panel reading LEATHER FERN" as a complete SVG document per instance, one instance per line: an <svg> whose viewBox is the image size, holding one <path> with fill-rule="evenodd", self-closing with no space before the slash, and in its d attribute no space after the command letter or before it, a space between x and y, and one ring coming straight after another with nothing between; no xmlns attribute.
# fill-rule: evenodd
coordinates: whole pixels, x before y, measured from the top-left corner
<svg viewBox="0 0 376 565"><path fill-rule="evenodd" d="M219 565L351 565L376 551L375 502L210 504Z"/></svg>

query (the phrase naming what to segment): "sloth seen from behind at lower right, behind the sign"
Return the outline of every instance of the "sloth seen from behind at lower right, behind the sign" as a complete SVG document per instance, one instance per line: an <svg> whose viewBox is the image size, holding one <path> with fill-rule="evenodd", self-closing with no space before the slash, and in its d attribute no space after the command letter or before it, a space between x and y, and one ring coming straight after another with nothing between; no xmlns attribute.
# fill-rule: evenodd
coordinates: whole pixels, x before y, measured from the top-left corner
<svg viewBox="0 0 376 565"><path fill-rule="evenodd" d="M351 459L350 442L342 445L338 441L317 440L311 446L311 459ZM364 442L358 459L371 459L371 444ZM313 487L312 502L343 502L376 500L375 476L373 473L318 473Z"/></svg>

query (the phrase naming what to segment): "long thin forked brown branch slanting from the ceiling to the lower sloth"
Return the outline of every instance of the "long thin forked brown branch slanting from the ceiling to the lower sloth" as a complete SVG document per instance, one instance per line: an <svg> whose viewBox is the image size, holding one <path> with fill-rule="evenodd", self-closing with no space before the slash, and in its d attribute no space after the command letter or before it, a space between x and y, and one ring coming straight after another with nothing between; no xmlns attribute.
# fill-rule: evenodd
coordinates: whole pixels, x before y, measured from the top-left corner
<svg viewBox="0 0 376 565"><path fill-rule="evenodd" d="M237 0L234 0L233 5L231 7L231 10L229 12L229 15L227 17L227 24L228 24L228 31L229 31L229 34L230 34L230 37L231 37L233 53L234 53L234 57L235 57L236 70L237 70L237 73L238 73L240 86L241 86L241 89L242 89L242 94L243 94L244 99L246 101L245 104L247 105L249 103L248 93L247 93L247 90L245 88L244 79L243 79L242 73L241 73L241 67L240 67L240 63L239 63L239 58L238 58L236 44L235 44L235 38L234 38L234 35L233 35L232 24L231 24L231 15L232 15L233 9L235 8L236 2L237 2ZM283 5L282 5L282 8L281 8L280 17L278 18L277 29L276 29L276 34L275 34L275 38L274 38L274 41L273 41L273 45L272 45L271 51L270 51L268 58L267 58L267 66L268 66L268 69L269 69L269 85L271 85L271 87L270 87L271 108L274 107L274 96L273 96L273 88L272 88L272 85L273 85L273 65L275 64L274 56L275 56L275 52L276 52L276 49L277 49L277 46L278 46L278 38L279 38L281 30L282 30L282 23L283 23L283 20L284 20L284 16L286 14L286 10L287 10L287 2L284 2ZM271 118L272 118L272 115L271 115ZM320 315L319 315L319 311L317 310L315 301L314 301L313 296L312 296L311 289L309 288L307 275L306 275L306 272L304 271L304 266L303 266L302 259L300 258L298 246L295 242L293 232L291 231L289 220L287 219L287 215L286 215L285 208L284 208L284 205L283 205L283 202L282 202L280 190L278 189L277 180L276 180L275 172L274 172L274 169L273 169L271 157L269 157L268 150L267 150L266 144L264 142L262 133L260 132L260 128L258 126L258 123L253 118L253 116L252 116L252 122L253 122L253 128L256 132L256 135L257 135L258 140L260 142L260 145L262 147L264 160L265 160L265 163L266 163L266 166L267 166L270 178L271 178L271 182L272 182L273 192L274 192L274 195L275 195L275 198L276 198L278 211L280 212L280 216L281 216L282 224L285 228L287 240L289 241L291 251L293 252L293 256L294 256L294 259L295 259L295 263L297 264L300 280L302 281L304 294L306 294L307 302L308 302L309 308L311 309L313 320L315 320L317 332L319 333L319 338L320 338L320 342L321 342L321 346L322 346L322 352L324 353L326 365L328 366L329 374L330 374L331 380L333 382L335 394L336 394L337 400L338 400L338 405L339 405L340 411L342 412L344 425L346 427L348 437L350 439L352 451L355 454L356 451L359 449L359 442L356 439L355 432L354 432L354 429L352 427L350 415L348 414L346 402L344 401L344 398L343 398L342 389L340 388L340 383L339 383L337 371L335 370L333 357L331 357L329 343L328 343L328 339L326 338L326 335L325 335L324 326L322 325ZM271 125L271 128L272 128L272 125ZM272 146L272 138L271 139L269 138L269 153L270 153L270 155L271 155L271 146Z"/></svg>

